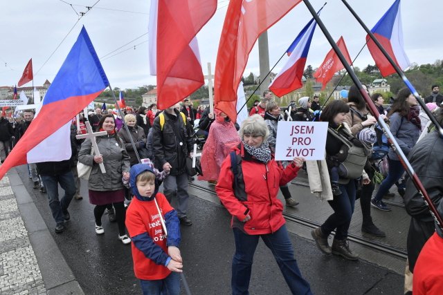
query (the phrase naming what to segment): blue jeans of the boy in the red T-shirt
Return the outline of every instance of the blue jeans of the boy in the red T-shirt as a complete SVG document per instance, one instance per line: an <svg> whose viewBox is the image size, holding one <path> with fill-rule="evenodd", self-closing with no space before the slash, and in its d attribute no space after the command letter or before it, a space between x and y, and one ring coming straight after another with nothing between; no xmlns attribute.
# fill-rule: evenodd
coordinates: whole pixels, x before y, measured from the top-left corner
<svg viewBox="0 0 443 295"><path fill-rule="evenodd" d="M179 295L180 275L172 272L163 280L140 280L140 285L144 295Z"/></svg>

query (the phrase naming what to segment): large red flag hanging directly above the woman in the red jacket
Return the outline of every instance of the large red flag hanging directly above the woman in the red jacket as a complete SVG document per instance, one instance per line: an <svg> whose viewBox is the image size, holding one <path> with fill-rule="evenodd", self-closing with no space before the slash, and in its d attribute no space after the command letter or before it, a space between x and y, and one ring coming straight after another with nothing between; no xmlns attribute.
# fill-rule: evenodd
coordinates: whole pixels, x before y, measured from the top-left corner
<svg viewBox="0 0 443 295"><path fill-rule="evenodd" d="M255 41L301 0L231 0L224 19L215 65L215 105L237 118L237 88Z"/></svg>

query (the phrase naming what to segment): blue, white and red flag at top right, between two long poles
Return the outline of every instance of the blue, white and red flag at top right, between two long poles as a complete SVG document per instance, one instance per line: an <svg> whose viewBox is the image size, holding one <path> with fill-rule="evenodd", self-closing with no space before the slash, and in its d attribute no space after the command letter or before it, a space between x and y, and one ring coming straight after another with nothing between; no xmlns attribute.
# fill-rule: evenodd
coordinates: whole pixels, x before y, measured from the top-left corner
<svg viewBox="0 0 443 295"><path fill-rule="evenodd" d="M385 48L395 64L402 70L410 66L410 61L404 52L403 46L403 30L401 28L400 0L396 0L389 10L381 17L379 22L372 28L372 34ZM383 77L395 73L395 68L390 64L388 59L381 53L377 44L372 41L369 35L366 36L368 49L372 58L377 64Z"/></svg>

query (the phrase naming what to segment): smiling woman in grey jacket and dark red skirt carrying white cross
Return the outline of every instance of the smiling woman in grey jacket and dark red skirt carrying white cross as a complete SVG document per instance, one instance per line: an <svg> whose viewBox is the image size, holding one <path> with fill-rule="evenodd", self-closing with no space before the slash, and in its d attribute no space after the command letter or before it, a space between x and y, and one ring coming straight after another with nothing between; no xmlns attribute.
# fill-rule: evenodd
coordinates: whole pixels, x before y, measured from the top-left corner
<svg viewBox="0 0 443 295"><path fill-rule="evenodd" d="M97 137L100 155L91 154L91 140L83 142L78 160L92 166L89 175L89 202L96 205L94 217L96 218L96 234L105 234L102 227L102 216L109 204L114 205L118 224L118 239L123 244L129 244L131 239L125 229L125 187L122 178L129 180L129 155L122 140L116 134L116 121L113 115L105 115L98 123L100 131L107 131L107 135ZM105 165L106 173L100 171L99 164Z"/></svg>

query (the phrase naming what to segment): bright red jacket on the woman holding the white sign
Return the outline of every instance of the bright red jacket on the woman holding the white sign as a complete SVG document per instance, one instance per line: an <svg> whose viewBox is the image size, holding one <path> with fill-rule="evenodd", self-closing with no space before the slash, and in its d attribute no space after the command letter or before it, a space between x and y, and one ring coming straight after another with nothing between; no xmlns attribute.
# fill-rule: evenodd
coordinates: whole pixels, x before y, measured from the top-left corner
<svg viewBox="0 0 443 295"><path fill-rule="evenodd" d="M295 178L300 168L290 164L283 169L273 159L268 164L253 160L251 155L245 154L242 144L236 153L242 158L237 164L237 186L234 186L234 173L228 155L221 164L215 187L221 202L233 216L231 226L250 235L273 233L285 222L283 204L277 198L278 189ZM247 213L251 220L242 222Z"/></svg>

